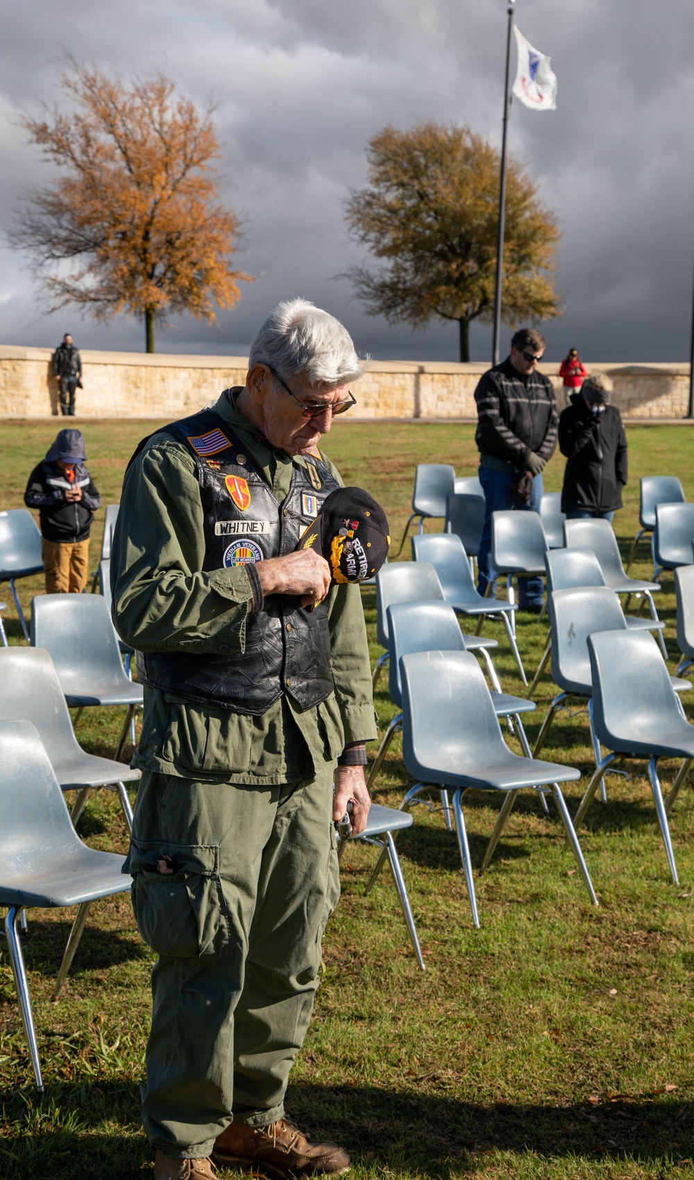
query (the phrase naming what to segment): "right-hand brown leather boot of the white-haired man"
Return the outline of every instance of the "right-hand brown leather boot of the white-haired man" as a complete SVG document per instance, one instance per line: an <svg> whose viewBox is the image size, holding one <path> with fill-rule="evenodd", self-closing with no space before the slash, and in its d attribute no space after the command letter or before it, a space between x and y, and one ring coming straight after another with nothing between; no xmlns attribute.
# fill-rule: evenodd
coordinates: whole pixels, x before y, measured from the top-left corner
<svg viewBox="0 0 694 1180"><path fill-rule="evenodd" d="M269 1127L230 1123L212 1148L220 1167L255 1167L275 1176L335 1175L349 1169L347 1152L336 1143L316 1143L287 1119Z"/></svg>

